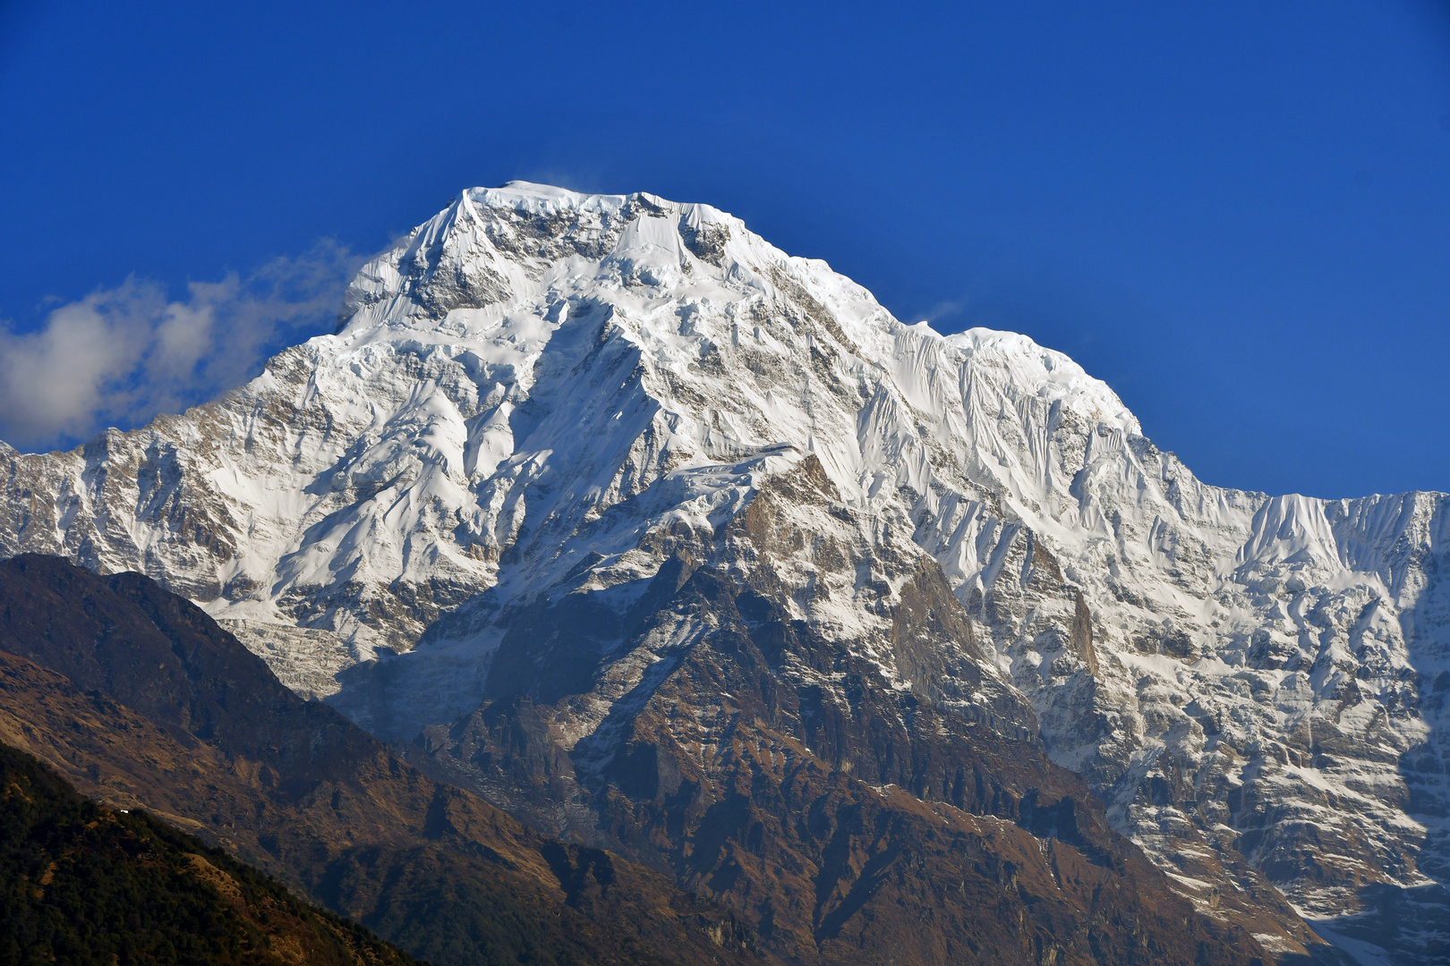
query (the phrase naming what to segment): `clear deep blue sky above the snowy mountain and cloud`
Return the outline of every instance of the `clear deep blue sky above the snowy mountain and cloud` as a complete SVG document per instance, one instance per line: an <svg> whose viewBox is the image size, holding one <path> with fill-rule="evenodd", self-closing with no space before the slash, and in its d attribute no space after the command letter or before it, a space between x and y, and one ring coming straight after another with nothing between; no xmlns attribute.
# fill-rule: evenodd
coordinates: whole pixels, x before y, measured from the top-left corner
<svg viewBox="0 0 1450 966"><path fill-rule="evenodd" d="M1444 4L0 7L14 330L510 178L1025 332L1208 482L1450 490Z"/></svg>

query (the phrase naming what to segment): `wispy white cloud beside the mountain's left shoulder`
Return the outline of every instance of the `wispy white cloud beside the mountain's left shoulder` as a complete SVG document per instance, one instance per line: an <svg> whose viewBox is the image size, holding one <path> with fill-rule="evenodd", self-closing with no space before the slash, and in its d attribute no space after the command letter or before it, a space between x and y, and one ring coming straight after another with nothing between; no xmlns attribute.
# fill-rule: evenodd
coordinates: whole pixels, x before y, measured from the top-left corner
<svg viewBox="0 0 1450 966"><path fill-rule="evenodd" d="M44 450L129 429L241 385L274 352L332 332L362 259L335 242L183 300L128 278L54 308L36 332L0 320L0 439Z"/></svg>

